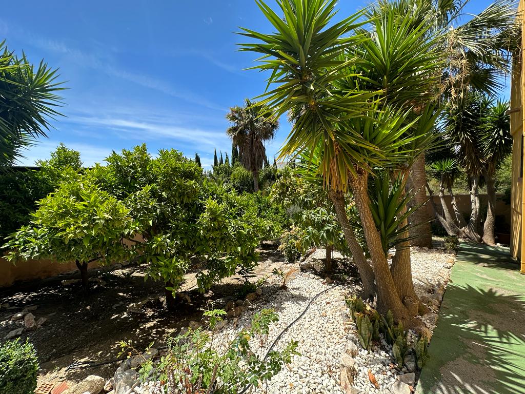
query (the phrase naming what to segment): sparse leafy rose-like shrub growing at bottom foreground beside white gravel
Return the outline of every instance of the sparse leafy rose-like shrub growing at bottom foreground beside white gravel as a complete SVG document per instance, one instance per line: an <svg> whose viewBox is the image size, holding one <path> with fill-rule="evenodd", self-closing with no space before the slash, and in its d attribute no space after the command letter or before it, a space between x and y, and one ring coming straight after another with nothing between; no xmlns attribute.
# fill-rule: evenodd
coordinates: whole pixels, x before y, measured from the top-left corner
<svg viewBox="0 0 525 394"><path fill-rule="evenodd" d="M269 326L279 320L271 309L256 313L251 325L241 329L233 338L217 343L215 327L222 321L224 310L205 313L210 331L190 329L177 337L167 338L167 352L155 364L144 360L139 375L146 380L153 375L170 393L220 392L236 394L248 385L258 387L260 382L275 376L296 352L297 341L291 341L280 351L272 350L262 358L251 350L250 339L266 345ZM137 354L130 343L122 343L122 350ZM130 351L131 350L131 351Z"/></svg>

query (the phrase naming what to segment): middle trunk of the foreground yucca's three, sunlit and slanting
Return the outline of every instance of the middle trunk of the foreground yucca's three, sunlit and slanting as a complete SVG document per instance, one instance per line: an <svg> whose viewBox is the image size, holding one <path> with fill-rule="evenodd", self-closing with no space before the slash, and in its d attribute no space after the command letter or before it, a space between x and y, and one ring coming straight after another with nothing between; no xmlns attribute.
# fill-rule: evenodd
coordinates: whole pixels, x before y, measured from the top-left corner
<svg viewBox="0 0 525 394"><path fill-rule="evenodd" d="M390 268L388 268L386 255L381 244L381 236L375 227L374 218L370 211L367 185L368 174L359 174L358 177L351 181L355 206L359 212L366 244L374 267L377 287L377 310L383 314L391 310L396 322L403 322L405 327L409 327L412 325L412 320L407 308L397 295L394 279L390 273Z"/></svg>

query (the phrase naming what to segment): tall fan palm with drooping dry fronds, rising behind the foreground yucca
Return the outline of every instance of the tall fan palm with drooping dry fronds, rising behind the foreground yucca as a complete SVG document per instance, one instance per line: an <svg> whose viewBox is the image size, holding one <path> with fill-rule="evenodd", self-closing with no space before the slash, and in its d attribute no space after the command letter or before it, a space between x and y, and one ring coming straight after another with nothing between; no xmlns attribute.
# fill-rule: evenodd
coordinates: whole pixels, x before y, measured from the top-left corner
<svg viewBox="0 0 525 394"><path fill-rule="evenodd" d="M500 91L502 77L510 72L510 54L518 49L516 2L499 0L477 15L466 14L466 4L464 0L381 0L371 9L376 17L392 13L401 17L412 15L414 27L425 25L429 32L439 35L436 44L446 54L442 99L451 104L449 108L461 106L471 90L490 95ZM424 155L414 162L411 174L414 200L421 205L427 200ZM473 199L476 204L476 198ZM428 221L426 210L416 211L412 220L419 224L417 232L421 234L413 244L430 246L430 226L421 225Z"/></svg>

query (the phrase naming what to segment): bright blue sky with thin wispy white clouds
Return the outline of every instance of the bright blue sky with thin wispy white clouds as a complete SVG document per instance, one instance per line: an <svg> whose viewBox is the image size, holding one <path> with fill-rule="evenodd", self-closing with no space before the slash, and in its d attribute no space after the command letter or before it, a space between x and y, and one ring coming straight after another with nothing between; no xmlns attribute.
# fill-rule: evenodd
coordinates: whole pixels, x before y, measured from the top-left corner
<svg viewBox="0 0 525 394"><path fill-rule="evenodd" d="M366 4L343 0L336 18ZM472 0L467 11L488 4ZM272 31L253 0L6 2L2 11L0 37L9 48L59 68L68 88L65 117L22 164L47 158L59 142L79 150L85 165L146 142L151 152L198 152L209 165L214 148L230 152L228 108L266 86L264 74L243 70L254 54L235 45L243 41L238 26ZM283 118L269 157L289 130Z"/></svg>

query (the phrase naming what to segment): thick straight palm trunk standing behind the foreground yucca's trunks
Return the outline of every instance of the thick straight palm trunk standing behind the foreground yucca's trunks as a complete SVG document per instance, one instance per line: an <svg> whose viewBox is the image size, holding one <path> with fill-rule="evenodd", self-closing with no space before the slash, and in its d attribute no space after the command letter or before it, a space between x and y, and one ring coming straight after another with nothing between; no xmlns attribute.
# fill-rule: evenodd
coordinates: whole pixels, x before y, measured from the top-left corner
<svg viewBox="0 0 525 394"><path fill-rule="evenodd" d="M425 155L420 154L412 164L408 179L408 188L414 193L414 198L409 202L409 206L419 206L419 209L410 215L410 222L414 225L410 233L412 236L416 236L410 243L412 246L432 247L432 229L428 217L425 184Z"/></svg>

